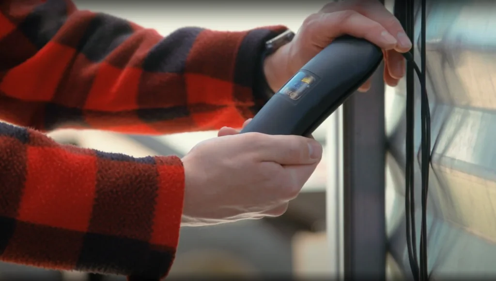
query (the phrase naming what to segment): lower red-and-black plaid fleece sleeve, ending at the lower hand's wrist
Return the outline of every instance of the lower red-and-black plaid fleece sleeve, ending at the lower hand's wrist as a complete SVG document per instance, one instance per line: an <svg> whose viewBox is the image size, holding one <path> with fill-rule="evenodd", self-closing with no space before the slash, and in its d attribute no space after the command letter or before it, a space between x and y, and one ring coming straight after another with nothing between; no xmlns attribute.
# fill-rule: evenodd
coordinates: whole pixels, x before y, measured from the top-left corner
<svg viewBox="0 0 496 281"><path fill-rule="evenodd" d="M139 278L167 274L183 209L179 158L63 146L0 123L0 167L0 260Z"/></svg>

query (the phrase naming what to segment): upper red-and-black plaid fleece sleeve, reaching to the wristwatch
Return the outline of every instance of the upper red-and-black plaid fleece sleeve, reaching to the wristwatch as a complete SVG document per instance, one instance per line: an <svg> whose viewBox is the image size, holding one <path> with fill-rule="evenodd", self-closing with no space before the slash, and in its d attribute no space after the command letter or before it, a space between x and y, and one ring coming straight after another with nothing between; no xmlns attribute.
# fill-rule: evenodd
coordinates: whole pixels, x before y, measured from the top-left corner
<svg viewBox="0 0 496 281"><path fill-rule="evenodd" d="M263 43L285 30L183 28L164 38L70 1L2 7L0 118L40 130L239 127L267 100L253 91Z"/></svg>

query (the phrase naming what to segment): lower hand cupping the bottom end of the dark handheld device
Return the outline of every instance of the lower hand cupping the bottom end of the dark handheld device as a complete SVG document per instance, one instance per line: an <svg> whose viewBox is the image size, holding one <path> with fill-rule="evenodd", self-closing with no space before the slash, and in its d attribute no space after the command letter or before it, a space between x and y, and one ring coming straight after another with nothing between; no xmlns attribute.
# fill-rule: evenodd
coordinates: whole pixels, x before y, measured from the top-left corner
<svg viewBox="0 0 496 281"><path fill-rule="evenodd" d="M322 157L322 146L311 138L232 128L218 135L183 158L183 226L280 216Z"/></svg>

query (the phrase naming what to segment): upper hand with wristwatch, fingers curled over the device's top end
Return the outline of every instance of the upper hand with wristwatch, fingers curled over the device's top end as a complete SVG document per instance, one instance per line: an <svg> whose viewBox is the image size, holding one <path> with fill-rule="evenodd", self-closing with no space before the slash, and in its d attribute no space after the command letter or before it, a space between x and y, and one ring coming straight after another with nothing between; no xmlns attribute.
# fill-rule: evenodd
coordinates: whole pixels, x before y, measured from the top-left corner
<svg viewBox="0 0 496 281"><path fill-rule="evenodd" d="M305 19L293 41L264 62L267 82L275 92L313 56L342 35L364 38L384 53L384 82L396 86L405 75L401 53L412 48L400 22L377 0L346 0L326 4ZM367 91L370 80L360 87Z"/></svg>

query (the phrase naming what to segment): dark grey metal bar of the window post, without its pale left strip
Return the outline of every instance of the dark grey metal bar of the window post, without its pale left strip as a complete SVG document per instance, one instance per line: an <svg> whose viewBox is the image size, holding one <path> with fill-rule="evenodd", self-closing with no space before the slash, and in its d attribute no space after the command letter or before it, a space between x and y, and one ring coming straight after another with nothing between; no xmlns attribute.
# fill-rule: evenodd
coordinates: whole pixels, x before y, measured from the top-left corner
<svg viewBox="0 0 496 281"><path fill-rule="evenodd" d="M383 65L343 105L344 278L385 280Z"/></svg>

